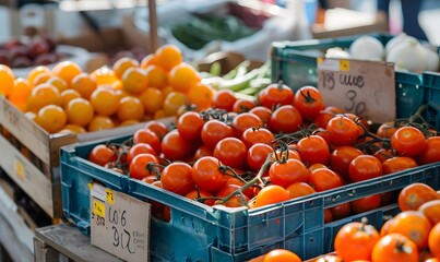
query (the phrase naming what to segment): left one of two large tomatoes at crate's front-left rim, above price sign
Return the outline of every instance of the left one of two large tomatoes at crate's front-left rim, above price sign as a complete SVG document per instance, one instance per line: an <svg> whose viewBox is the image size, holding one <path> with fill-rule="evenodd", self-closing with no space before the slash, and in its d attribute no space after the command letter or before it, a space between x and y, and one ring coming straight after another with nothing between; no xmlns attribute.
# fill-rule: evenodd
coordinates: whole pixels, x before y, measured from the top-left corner
<svg viewBox="0 0 440 262"><path fill-rule="evenodd" d="M194 189L192 167L183 162L174 162L162 171L160 182L164 189L186 195Z"/></svg>

